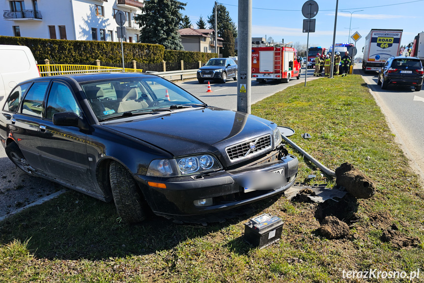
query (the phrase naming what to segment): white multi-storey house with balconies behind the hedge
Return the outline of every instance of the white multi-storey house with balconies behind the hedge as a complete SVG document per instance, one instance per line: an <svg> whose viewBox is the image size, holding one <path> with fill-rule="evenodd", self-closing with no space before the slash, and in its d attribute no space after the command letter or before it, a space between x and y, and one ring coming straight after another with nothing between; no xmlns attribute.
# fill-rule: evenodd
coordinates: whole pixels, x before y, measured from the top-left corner
<svg viewBox="0 0 424 283"><path fill-rule="evenodd" d="M119 41L114 15L127 17L126 42L137 42L143 0L0 0L0 35Z"/></svg>

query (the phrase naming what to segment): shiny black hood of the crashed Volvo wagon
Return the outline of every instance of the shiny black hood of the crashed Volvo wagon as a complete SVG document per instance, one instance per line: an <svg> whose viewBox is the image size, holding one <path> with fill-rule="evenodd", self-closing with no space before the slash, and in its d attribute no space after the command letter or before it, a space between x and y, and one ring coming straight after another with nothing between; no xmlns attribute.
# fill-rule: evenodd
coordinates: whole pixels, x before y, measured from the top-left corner
<svg viewBox="0 0 424 283"><path fill-rule="evenodd" d="M274 123L241 112L208 107L103 124L178 157L212 152L228 163L225 148L273 133Z"/></svg>

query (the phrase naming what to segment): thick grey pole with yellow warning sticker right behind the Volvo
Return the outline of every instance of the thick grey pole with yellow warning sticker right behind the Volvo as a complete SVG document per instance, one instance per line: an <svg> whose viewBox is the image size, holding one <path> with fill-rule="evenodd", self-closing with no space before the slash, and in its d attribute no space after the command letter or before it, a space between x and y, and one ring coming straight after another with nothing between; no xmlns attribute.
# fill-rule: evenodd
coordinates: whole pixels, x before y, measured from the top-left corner
<svg viewBox="0 0 424 283"><path fill-rule="evenodd" d="M250 114L252 85L252 0L238 0L237 111Z"/></svg>

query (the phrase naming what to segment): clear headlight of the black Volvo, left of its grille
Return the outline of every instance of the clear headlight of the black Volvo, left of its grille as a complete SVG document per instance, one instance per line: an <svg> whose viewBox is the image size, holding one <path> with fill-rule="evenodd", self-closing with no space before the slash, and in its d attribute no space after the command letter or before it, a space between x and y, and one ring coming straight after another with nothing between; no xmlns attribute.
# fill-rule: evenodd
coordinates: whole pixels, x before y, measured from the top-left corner
<svg viewBox="0 0 424 283"><path fill-rule="evenodd" d="M146 175L153 177L177 177L200 174L221 168L222 166L216 157L204 154L175 159L155 159L150 162Z"/></svg>

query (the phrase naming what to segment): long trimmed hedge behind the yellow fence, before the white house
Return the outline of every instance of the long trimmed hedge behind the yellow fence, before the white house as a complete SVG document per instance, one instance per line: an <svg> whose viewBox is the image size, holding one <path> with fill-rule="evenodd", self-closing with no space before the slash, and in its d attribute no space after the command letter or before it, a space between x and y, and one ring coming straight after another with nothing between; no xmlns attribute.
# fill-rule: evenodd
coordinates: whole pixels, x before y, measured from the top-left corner
<svg viewBox="0 0 424 283"><path fill-rule="evenodd" d="M91 63L97 59L122 63L119 42L0 36L0 44L28 46L39 64L44 59L49 59L51 64ZM163 45L124 43L123 47L125 62L160 63L164 58Z"/></svg>

